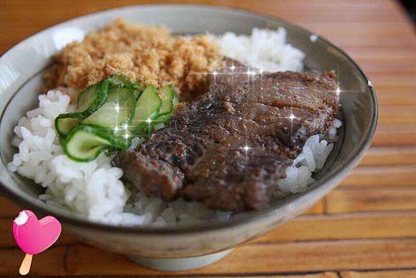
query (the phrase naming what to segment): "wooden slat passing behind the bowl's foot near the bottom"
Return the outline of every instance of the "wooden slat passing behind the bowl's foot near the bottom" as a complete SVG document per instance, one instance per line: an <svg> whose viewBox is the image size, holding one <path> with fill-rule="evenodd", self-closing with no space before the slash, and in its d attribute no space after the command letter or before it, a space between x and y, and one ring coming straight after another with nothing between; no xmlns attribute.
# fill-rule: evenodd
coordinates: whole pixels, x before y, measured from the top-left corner
<svg viewBox="0 0 416 278"><path fill-rule="evenodd" d="M416 239L326 241L243 245L214 265L177 275L256 274L413 267ZM99 255L98 255L99 254ZM395 258L395 259L392 259ZM102 268L101 266L112 266ZM125 257L75 245L67 256L69 275L162 275Z"/></svg>

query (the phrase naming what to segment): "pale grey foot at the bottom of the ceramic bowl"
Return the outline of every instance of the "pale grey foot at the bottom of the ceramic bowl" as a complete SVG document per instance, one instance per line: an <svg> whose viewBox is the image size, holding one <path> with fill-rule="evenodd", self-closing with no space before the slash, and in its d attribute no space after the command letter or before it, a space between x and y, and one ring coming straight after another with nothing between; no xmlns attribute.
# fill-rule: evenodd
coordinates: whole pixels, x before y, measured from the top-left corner
<svg viewBox="0 0 416 278"><path fill-rule="evenodd" d="M227 254L229 254L230 252L232 252L232 250L227 250L199 257L185 257L175 259L157 259L135 256L128 256L128 258L134 261L135 263L139 263L139 265L141 266L147 266L148 268L153 268L155 270L180 271L208 266L211 263L215 263L216 261L223 259L223 257L227 256Z"/></svg>

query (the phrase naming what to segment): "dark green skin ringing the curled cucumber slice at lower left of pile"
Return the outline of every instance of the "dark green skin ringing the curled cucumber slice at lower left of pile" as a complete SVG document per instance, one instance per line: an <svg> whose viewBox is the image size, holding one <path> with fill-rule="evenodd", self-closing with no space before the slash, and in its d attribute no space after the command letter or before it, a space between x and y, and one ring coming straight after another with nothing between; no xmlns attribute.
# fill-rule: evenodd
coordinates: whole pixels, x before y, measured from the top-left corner
<svg viewBox="0 0 416 278"><path fill-rule="evenodd" d="M72 137L74 137L76 135L76 133L78 131L85 131L88 132L90 134L94 134L98 137L101 137L107 141L110 142L109 145L107 146L103 146L101 148L99 148L96 153L94 155L92 155L91 157L87 157L87 158L80 158L80 157L76 157L74 155L72 155L68 148L67 148L67 144L71 141ZM128 145L127 144L123 144L121 143L121 141L118 141L116 139L114 139L114 134L110 134L109 132L105 132L103 130L103 128L101 126L98 125L77 125L76 128L73 128L71 130L71 132L69 132L67 138L64 139L64 145L62 145L63 149L64 149L64 153L71 159L73 159L76 162L91 162L92 160L96 159L98 157L98 155L100 155L101 153L103 153L103 151L105 150L111 150L111 149L121 149L121 150L127 150Z"/></svg>

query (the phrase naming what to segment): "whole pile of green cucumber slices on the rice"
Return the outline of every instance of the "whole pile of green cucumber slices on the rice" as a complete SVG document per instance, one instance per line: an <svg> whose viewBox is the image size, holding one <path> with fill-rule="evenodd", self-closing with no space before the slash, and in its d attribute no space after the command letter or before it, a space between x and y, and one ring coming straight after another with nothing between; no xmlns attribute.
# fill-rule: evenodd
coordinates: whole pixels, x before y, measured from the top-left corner
<svg viewBox="0 0 416 278"><path fill-rule="evenodd" d="M56 130L71 159L88 162L105 150L126 150L131 139L153 132L173 116L179 99L172 85L144 89L125 76L109 76L78 96L76 112L60 114Z"/></svg>

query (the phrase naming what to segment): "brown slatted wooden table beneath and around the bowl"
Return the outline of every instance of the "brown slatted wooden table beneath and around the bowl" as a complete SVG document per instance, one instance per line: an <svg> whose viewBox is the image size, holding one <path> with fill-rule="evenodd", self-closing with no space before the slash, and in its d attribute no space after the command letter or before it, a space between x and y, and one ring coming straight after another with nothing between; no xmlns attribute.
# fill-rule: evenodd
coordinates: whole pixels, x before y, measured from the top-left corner
<svg viewBox="0 0 416 278"><path fill-rule="evenodd" d="M74 3L76 2L76 3ZM0 53L71 17L148 1L1 1ZM416 35L397 1L205 1L300 24L345 49L379 98L379 127L361 164L304 216L237 248L213 266L166 273L79 243L65 231L35 256L32 276L416 277ZM1 197L0 197L1 198ZM0 276L18 275L21 250L0 199Z"/></svg>

